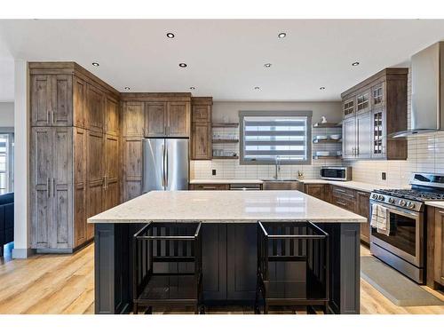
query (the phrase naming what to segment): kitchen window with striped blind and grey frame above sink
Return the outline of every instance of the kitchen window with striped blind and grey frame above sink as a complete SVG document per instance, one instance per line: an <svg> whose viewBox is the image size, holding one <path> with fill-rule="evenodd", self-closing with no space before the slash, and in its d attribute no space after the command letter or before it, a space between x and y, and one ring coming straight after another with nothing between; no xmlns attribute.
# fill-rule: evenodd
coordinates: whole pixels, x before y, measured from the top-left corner
<svg viewBox="0 0 444 333"><path fill-rule="evenodd" d="M312 111L240 111L241 164L310 164Z"/></svg>

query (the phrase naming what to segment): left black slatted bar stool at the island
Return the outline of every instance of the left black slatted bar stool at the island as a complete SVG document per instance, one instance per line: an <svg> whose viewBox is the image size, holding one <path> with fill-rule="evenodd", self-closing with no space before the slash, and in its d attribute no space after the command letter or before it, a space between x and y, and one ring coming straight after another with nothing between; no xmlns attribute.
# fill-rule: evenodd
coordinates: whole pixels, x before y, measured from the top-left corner
<svg viewBox="0 0 444 333"><path fill-rule="evenodd" d="M201 223L150 222L133 236L134 313L193 306L204 313Z"/></svg>

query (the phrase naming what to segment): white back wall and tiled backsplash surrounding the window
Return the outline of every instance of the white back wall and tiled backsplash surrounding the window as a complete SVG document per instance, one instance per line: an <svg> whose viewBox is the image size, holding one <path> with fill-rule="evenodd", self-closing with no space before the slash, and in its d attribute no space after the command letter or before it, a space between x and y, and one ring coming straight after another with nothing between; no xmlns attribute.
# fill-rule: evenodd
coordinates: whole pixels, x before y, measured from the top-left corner
<svg viewBox="0 0 444 333"><path fill-rule="evenodd" d="M242 110L291 110L291 111L313 111L313 123L321 121L321 115L325 115L331 123L341 120L340 102L214 102L212 109L212 122L239 122L239 111ZM313 130L314 134L329 133L330 130ZM335 130L333 130L335 131ZM336 130L337 131L337 130ZM238 129L213 129L213 135L234 134L239 136ZM324 146L324 145L322 145ZM215 146L216 147L216 146ZM213 147L213 148L215 148ZM238 144L218 145L218 148L233 150L239 154ZM313 147L314 148L314 147ZM328 147L321 147L321 149ZM340 146L337 149L341 150ZM313 160L311 165L282 165L281 177L296 178L297 172L304 172L305 178L318 178L319 169L322 165L337 165L340 160ZM216 170L216 176L212 176L211 170ZM274 165L241 165L239 160L212 160L192 161L191 178L271 178L274 175Z"/></svg>

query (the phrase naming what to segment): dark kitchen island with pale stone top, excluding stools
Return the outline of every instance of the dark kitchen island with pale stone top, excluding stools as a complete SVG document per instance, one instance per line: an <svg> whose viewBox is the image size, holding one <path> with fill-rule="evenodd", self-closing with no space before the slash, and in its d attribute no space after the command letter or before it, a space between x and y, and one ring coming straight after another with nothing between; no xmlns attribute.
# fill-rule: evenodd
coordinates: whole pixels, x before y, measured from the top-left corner
<svg viewBox="0 0 444 333"><path fill-rule="evenodd" d="M202 222L206 304L252 303L257 222L311 221L329 234L332 313L360 311L360 223L299 191L153 191L88 219L95 224L95 313L131 309L131 239L154 222Z"/></svg>

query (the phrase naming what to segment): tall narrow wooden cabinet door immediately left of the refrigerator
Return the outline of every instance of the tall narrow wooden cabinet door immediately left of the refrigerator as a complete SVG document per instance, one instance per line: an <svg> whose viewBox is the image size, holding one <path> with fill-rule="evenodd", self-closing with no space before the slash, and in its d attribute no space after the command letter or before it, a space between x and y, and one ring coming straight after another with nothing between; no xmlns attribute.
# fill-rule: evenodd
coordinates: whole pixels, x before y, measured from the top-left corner
<svg viewBox="0 0 444 333"><path fill-rule="evenodd" d="M123 202L141 194L142 139L125 138L123 142Z"/></svg>

